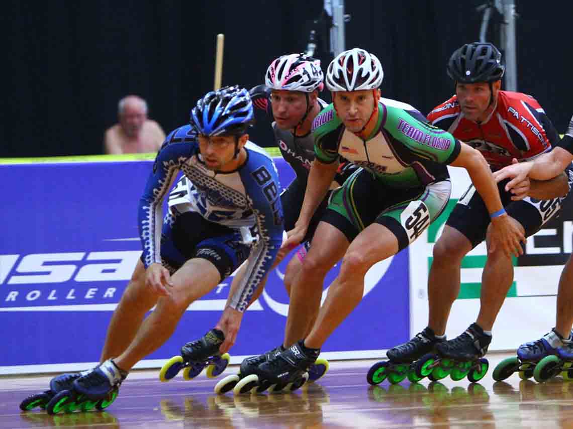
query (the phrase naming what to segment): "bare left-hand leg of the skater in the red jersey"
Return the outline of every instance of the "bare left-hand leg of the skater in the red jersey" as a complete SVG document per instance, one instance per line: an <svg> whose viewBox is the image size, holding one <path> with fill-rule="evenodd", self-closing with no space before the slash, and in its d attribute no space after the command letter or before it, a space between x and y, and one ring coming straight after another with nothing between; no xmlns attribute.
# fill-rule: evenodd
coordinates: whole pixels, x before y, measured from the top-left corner
<svg viewBox="0 0 573 429"><path fill-rule="evenodd" d="M444 335L450 310L460 294L460 267L472 243L448 225L434 245L434 259L428 275L428 326L438 336Z"/></svg>

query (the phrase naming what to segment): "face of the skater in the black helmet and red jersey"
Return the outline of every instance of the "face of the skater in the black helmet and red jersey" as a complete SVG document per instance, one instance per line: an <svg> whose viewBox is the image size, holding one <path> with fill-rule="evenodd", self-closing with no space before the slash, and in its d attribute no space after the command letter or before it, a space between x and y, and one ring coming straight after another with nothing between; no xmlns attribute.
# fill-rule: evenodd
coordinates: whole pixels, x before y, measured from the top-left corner
<svg viewBox="0 0 573 429"><path fill-rule="evenodd" d="M456 84L456 95L464 116L472 121L484 121L495 107L501 81L492 83L492 91L487 82L476 84ZM490 104L490 100L492 103Z"/></svg>

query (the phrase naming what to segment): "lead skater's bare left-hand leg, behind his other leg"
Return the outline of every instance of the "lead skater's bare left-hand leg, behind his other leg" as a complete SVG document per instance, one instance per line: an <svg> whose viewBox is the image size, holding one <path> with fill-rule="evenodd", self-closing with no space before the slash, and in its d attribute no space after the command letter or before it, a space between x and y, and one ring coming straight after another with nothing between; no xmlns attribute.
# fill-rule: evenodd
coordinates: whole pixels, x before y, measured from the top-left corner
<svg viewBox="0 0 573 429"><path fill-rule="evenodd" d="M131 280L121 296L109 322L100 362L121 355L135 337L145 313L157 302L158 296L145 284L145 267L138 260Z"/></svg>

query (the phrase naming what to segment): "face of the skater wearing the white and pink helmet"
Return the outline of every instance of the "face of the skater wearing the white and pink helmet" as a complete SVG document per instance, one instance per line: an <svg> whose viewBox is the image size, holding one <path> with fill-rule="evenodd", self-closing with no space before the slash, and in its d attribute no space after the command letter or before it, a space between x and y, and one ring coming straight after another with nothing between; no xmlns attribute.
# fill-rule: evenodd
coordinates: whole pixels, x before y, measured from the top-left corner
<svg viewBox="0 0 573 429"><path fill-rule="evenodd" d="M316 93L309 95L310 105L316 99ZM270 94L274 121L279 129L293 129L299 125L307 112L307 97L300 91L273 90Z"/></svg>

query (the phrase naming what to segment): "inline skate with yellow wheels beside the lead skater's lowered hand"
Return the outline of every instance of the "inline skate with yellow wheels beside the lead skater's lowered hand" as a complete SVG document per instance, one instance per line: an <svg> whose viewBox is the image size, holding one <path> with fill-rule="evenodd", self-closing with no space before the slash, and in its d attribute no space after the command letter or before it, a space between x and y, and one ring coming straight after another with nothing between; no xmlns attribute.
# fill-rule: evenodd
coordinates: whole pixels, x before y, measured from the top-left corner
<svg viewBox="0 0 573 429"><path fill-rule="evenodd" d="M180 356L173 356L159 371L159 380L169 381L183 369L183 378L191 380L207 367L207 377L214 378L227 368L229 353L219 354L219 347L225 341L222 330L211 329L201 339L190 341L181 348Z"/></svg>

